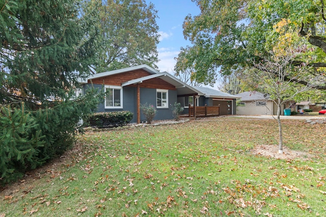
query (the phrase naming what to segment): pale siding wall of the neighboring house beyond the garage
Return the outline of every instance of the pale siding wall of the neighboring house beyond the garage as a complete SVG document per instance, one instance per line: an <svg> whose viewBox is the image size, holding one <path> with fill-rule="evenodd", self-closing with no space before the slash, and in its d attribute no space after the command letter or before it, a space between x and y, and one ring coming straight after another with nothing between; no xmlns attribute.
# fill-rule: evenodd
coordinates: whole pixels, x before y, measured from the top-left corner
<svg viewBox="0 0 326 217"><path fill-rule="evenodd" d="M272 101L267 101L266 106L256 105L256 102L245 102L245 106L237 106L236 114L239 115L271 115L276 114L275 107L272 108Z"/></svg>

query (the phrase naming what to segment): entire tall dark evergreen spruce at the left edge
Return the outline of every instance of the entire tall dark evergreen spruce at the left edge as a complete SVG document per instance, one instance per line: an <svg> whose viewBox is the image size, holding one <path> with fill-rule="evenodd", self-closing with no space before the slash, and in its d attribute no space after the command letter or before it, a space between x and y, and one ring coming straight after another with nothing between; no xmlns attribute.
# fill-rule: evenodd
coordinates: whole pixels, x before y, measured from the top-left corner
<svg viewBox="0 0 326 217"><path fill-rule="evenodd" d="M94 92L72 96L97 59L98 11L95 2L9 0L0 20L0 181L8 182L71 147L97 105Z"/></svg>

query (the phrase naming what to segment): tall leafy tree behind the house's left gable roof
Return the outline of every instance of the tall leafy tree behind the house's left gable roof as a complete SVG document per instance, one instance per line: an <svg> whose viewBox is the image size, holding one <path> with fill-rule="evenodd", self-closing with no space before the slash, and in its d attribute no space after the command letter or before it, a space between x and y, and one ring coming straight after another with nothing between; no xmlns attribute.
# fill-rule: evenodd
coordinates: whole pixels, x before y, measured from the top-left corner
<svg viewBox="0 0 326 217"><path fill-rule="evenodd" d="M110 70L147 64L155 69L159 34L157 11L144 0L99 1L100 53L93 71Z"/></svg>

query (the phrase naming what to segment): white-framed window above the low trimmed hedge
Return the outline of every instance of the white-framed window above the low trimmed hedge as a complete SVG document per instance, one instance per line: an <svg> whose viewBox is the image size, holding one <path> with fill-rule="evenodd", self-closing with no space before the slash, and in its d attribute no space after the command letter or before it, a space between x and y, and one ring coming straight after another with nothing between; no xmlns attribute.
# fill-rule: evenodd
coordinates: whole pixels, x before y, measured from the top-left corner
<svg viewBox="0 0 326 217"><path fill-rule="evenodd" d="M122 108L122 87L105 86L105 108Z"/></svg>

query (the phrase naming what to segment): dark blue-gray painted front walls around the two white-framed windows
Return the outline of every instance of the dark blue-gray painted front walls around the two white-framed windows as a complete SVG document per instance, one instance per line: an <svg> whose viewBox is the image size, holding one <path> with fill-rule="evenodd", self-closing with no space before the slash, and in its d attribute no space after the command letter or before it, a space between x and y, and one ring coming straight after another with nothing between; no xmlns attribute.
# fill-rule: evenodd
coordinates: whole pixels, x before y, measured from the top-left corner
<svg viewBox="0 0 326 217"><path fill-rule="evenodd" d="M84 91L86 91L91 84L84 85ZM93 84L94 88L102 89L102 85ZM121 109L105 109L104 99L99 103L97 112L113 112L113 111L130 111L133 113L133 118L130 122L137 122L137 88L136 87L123 87L123 102ZM141 88L141 104L151 104L156 107L156 89ZM168 103L169 108L157 108L157 113L154 120L173 119L171 104L177 102L177 91L169 90ZM146 118L141 112L141 121L145 121Z"/></svg>

